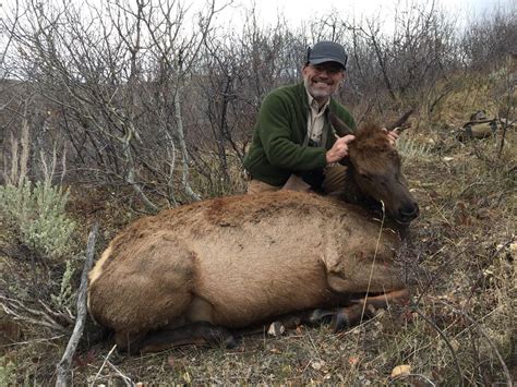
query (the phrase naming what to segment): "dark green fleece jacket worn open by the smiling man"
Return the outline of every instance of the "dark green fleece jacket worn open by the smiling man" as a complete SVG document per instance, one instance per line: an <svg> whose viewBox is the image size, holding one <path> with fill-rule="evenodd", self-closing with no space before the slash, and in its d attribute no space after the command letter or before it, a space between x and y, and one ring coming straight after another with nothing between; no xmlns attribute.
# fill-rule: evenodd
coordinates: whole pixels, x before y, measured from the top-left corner
<svg viewBox="0 0 517 387"><path fill-rule="evenodd" d="M284 86L269 93L262 102L253 141L244 157L244 168L253 179L270 185L284 185L294 172L308 172L326 166L326 152L336 138L327 112L330 109L349 128L356 129L352 116L330 99L325 112L323 132L325 147L304 146L309 114L309 98L303 83ZM325 137L325 136L324 136Z"/></svg>

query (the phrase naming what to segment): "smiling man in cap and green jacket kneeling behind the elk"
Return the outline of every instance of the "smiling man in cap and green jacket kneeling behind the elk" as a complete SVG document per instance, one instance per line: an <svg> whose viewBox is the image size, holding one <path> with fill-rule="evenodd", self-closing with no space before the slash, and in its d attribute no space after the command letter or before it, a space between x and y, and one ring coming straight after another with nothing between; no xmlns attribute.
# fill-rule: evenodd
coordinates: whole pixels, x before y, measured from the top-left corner
<svg viewBox="0 0 517 387"><path fill-rule="evenodd" d="M356 129L350 112L332 98L345 80L347 59L341 45L320 41L308 51L303 82L265 97L244 157L251 174L248 193L280 190L300 179L324 194L342 190L345 167L337 162L348 155L354 136L336 138L328 113Z"/></svg>

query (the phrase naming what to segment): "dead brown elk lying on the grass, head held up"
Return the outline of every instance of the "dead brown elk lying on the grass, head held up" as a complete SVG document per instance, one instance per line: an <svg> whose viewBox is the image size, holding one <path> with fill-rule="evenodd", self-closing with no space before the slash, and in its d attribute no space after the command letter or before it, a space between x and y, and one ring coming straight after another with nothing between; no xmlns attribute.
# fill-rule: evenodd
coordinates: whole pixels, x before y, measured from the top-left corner
<svg viewBox="0 0 517 387"><path fill-rule="evenodd" d="M207 199L144 217L119 233L89 273L88 311L132 353L185 343L235 344L241 329L338 307L335 328L408 295L395 264L398 228L418 205L378 125L350 144L356 204L294 191ZM350 305L357 294L368 294ZM347 306L348 305L348 306ZM309 311L309 312L305 312ZM317 314L317 313L316 313Z"/></svg>

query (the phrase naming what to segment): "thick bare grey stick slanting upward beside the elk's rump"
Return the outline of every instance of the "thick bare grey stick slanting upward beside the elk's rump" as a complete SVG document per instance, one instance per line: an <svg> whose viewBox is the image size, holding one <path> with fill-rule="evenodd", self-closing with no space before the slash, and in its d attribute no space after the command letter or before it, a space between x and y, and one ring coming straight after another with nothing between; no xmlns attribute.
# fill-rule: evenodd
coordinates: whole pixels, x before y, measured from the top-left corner
<svg viewBox="0 0 517 387"><path fill-rule="evenodd" d="M81 286L77 291L77 318L75 319L75 326L73 328L69 343L67 344L67 349L64 350L63 358L57 365L56 386L67 386L68 375L72 364L72 356L75 353L79 340L83 335L84 323L86 321L86 291L88 288L88 271L92 268L94 262L95 240L97 238L98 229L99 226L98 222L96 222L88 235L88 242L86 246L86 262L83 267L83 273L81 275Z"/></svg>

